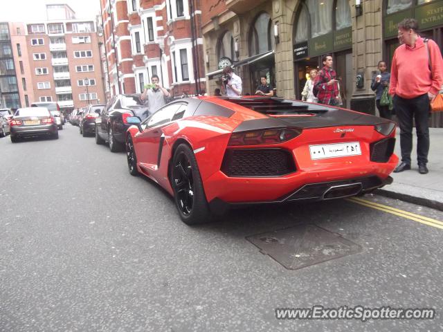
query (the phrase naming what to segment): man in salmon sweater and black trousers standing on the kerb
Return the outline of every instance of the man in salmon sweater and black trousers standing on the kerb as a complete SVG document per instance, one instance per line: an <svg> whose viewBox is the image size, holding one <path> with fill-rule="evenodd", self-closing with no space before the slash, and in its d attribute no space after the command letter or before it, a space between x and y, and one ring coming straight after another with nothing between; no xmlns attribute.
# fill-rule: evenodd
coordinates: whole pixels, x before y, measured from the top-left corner
<svg viewBox="0 0 443 332"><path fill-rule="evenodd" d="M415 19L404 19L397 27L402 45L392 57L389 93L394 96L395 113L399 120L401 163L394 172L410 169L415 119L418 169L420 174L427 174L429 106L443 84L442 54L433 40L425 40L418 35Z"/></svg>

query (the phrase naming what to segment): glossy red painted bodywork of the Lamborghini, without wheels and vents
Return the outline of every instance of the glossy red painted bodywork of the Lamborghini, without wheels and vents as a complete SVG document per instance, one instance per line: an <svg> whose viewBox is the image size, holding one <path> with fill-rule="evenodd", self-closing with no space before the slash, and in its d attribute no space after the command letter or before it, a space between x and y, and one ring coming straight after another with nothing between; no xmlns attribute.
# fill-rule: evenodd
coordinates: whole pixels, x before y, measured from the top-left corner
<svg viewBox="0 0 443 332"><path fill-rule="evenodd" d="M286 142L228 147L230 136L240 124L248 120L269 119L273 116L258 113L221 98L202 97L199 100L225 107L234 113L230 117L189 116L143 132L140 132L138 127L132 126L127 132L134 142L138 171L152 178L172 195L174 193L168 172L170 172L170 160L174 154L174 147L179 142L186 142L194 150L208 202L215 199L226 203L278 202L283 201L285 196L300 187L311 183L327 183L368 176L377 176L381 181L385 181L398 163L398 157L395 154L392 154L384 163L370 160L371 143L386 138L395 139L395 129L388 136L384 136L374 130L374 125L307 127L302 128L299 136ZM361 115L358 112L353 113ZM275 118L291 117L303 119L312 118L313 115L277 115ZM381 121L386 122L386 120ZM309 145L345 142L360 142L361 155L318 160L311 158ZM283 176L237 177L227 176L221 171L228 149L270 149L273 147L289 151L293 156L296 172Z"/></svg>

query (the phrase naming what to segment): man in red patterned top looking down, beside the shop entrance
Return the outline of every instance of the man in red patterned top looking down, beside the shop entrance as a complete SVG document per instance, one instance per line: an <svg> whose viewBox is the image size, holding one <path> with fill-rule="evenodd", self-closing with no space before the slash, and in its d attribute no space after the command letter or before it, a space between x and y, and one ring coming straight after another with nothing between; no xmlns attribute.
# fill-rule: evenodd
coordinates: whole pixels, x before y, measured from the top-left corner
<svg viewBox="0 0 443 332"><path fill-rule="evenodd" d="M320 104L338 105L338 80L332 69L332 55L325 55L322 59L323 68L314 80L314 95Z"/></svg>

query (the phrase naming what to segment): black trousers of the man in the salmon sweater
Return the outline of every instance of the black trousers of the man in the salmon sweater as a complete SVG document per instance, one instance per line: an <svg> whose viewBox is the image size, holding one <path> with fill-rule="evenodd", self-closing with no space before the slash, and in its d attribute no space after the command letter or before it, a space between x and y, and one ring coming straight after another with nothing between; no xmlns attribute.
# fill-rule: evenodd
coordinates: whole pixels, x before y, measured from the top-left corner
<svg viewBox="0 0 443 332"><path fill-rule="evenodd" d="M429 151L429 98L428 94L405 99L394 97L395 113L400 126L401 161L410 165L410 152L413 149L413 120L417 131L417 162L428 163Z"/></svg>

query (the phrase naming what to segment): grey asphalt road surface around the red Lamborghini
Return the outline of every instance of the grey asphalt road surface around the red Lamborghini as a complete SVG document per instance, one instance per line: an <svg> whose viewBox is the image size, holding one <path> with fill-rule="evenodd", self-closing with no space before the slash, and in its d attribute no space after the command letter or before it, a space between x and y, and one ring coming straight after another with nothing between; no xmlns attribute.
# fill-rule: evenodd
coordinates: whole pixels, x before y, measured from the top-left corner
<svg viewBox="0 0 443 332"><path fill-rule="evenodd" d="M0 139L0 331L443 331L443 229L403 211L442 212L368 196L372 205L255 207L189 227L168 194L129 175L124 153L64 127L59 140ZM251 240L306 225L356 252L288 270ZM275 318L316 304L437 317Z"/></svg>

